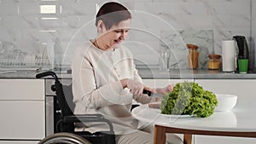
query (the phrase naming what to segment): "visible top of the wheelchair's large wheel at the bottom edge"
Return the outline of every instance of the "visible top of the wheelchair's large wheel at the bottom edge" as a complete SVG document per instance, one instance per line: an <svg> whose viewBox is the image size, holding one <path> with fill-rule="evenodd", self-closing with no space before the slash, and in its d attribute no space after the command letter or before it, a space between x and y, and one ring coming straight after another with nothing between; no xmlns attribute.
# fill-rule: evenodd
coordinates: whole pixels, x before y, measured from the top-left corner
<svg viewBox="0 0 256 144"><path fill-rule="evenodd" d="M39 141L38 144L90 144L89 141L84 139L82 136L75 135L72 133L55 133L45 137L42 141Z"/></svg>

